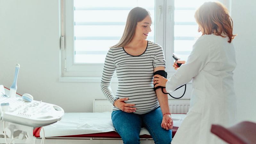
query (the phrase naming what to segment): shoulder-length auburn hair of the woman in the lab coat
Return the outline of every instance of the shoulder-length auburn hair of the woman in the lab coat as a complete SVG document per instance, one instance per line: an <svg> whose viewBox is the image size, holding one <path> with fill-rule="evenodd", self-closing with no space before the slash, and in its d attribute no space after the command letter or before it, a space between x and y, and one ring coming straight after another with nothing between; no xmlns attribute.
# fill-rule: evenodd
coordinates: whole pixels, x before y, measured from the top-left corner
<svg viewBox="0 0 256 144"><path fill-rule="evenodd" d="M195 12L202 35L214 34L229 38L229 43L235 38L233 35L233 20L227 8L219 2L205 2Z"/></svg>

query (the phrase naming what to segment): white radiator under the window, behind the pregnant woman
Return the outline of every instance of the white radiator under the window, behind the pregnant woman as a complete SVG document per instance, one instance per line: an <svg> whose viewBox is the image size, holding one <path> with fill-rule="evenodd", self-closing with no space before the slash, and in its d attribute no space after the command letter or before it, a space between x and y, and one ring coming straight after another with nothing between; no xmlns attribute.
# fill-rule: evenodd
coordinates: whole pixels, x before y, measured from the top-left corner
<svg viewBox="0 0 256 144"><path fill-rule="evenodd" d="M168 99L170 112L173 114L186 114L189 109L190 99ZM93 112L112 112L113 105L107 99L95 99Z"/></svg>

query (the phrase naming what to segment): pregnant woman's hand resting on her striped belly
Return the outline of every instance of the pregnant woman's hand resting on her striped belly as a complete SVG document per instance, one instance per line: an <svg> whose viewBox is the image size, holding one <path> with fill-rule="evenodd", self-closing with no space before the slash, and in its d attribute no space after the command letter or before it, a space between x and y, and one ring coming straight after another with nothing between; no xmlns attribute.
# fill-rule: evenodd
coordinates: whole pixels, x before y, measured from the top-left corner
<svg viewBox="0 0 256 144"><path fill-rule="evenodd" d="M135 110L137 108L132 108L132 106L135 106L135 104L128 104L128 103L125 103L124 101L125 100L128 100L128 98L122 98L122 99L118 99L114 102L114 106L121 109L122 111L124 112L127 112L127 113L132 113L132 112L135 112Z"/></svg>

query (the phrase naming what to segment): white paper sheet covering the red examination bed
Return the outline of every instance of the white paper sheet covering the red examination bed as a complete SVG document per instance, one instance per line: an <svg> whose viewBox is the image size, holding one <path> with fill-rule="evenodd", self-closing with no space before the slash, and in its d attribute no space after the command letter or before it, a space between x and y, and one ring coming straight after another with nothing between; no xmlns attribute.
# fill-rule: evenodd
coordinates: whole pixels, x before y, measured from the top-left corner
<svg viewBox="0 0 256 144"><path fill-rule="evenodd" d="M179 127L185 114L172 114L173 125ZM45 137L69 136L115 131L111 121L111 112L103 113L65 113L62 120L44 126ZM140 135L150 135L146 128L141 128ZM43 136L43 131L40 131Z"/></svg>

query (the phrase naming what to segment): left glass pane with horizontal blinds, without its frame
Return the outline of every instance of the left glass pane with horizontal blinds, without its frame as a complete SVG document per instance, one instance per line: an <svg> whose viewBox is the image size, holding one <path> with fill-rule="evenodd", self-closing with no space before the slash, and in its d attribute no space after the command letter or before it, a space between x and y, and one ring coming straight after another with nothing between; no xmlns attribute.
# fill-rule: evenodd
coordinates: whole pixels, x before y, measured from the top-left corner
<svg viewBox="0 0 256 144"><path fill-rule="evenodd" d="M119 42L128 13L136 6L144 6L154 20L154 0L74 0L74 63L103 63L108 47ZM154 41L154 29L148 39Z"/></svg>

